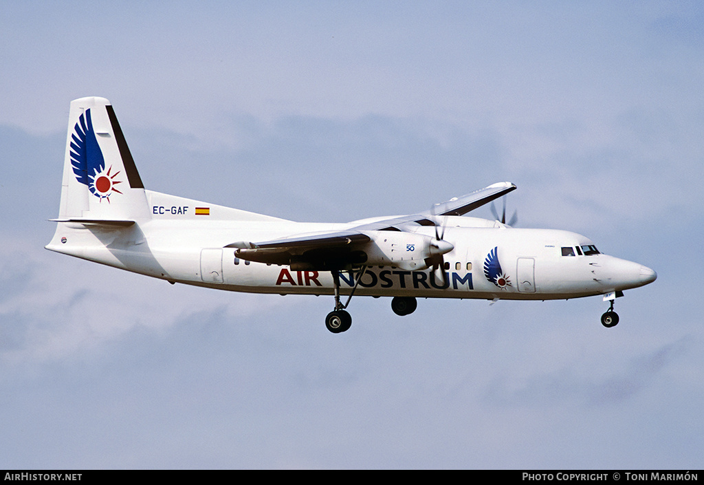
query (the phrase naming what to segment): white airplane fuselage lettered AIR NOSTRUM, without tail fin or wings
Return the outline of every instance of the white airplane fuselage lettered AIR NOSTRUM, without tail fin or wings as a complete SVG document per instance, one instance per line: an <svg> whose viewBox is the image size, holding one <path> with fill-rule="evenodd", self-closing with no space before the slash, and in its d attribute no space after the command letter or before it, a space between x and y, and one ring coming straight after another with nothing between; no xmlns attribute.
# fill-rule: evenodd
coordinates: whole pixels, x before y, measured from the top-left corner
<svg viewBox="0 0 704 485"><path fill-rule="evenodd" d="M129 228L60 222L47 249L174 283L249 293L332 295L329 271L294 271L287 265L249 262L225 246L239 240L344 231L360 223L198 219L192 216L193 207L179 214L179 208L187 206L165 207L158 203L160 196L148 191L151 214ZM246 213L239 212L240 219L241 214ZM360 270L342 272L340 293L351 293L358 283L356 295L551 300L603 295L655 279L655 273L641 264L606 254L584 254L579 248L593 243L576 233L510 228L466 216L448 216L445 226L444 240L454 249L444 255L444 281L432 269L370 266L360 281ZM432 237L434 228L419 226L415 232ZM379 240L384 231L374 235ZM563 248L571 248L574 255L562 255L570 254ZM485 271L492 251L501 266L501 275L491 275L494 281Z"/></svg>

